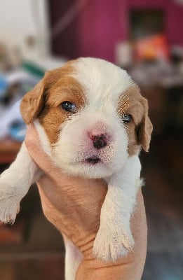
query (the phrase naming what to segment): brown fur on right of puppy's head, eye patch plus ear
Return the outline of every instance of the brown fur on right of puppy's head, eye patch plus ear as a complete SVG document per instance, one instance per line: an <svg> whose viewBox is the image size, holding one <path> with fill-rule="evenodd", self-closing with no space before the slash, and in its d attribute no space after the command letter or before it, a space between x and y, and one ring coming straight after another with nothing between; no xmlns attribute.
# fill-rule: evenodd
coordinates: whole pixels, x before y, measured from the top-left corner
<svg viewBox="0 0 183 280"><path fill-rule="evenodd" d="M123 92L118 101L118 114L128 113L133 117L130 123L124 124L128 133L128 153L134 155L140 151L149 150L151 140L152 124L148 117L147 99L142 97L137 85L131 85Z"/></svg>

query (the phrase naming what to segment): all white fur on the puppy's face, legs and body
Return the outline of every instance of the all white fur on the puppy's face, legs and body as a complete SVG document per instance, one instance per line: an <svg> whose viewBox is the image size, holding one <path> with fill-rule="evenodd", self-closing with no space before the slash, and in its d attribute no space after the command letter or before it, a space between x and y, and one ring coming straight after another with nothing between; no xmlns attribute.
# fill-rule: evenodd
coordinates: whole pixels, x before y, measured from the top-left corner
<svg viewBox="0 0 183 280"><path fill-rule="evenodd" d="M130 217L141 186L140 160L138 155L128 155L128 134L116 111L118 97L133 81L126 71L102 59L78 59L74 66L76 71L73 76L85 90L85 107L62 124L54 146L50 146L39 121L34 123L43 150L55 165L67 174L107 181L108 191L101 209L100 229L93 252L101 260L116 261L134 245ZM99 150L93 148L88 138L88 132L92 130L107 134L109 145ZM99 157L101 162L89 165L86 158L92 156ZM15 220L20 200L35 181L38 171L23 144L15 162L0 177L0 221L7 223ZM66 279L74 280L81 255L76 253L73 244L69 241L65 243Z"/></svg>

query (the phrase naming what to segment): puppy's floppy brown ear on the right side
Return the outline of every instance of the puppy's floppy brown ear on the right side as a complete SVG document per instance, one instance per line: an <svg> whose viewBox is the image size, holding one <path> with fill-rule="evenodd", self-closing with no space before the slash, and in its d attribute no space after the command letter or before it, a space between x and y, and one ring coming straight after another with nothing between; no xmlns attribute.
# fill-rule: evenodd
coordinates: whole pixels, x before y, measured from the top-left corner
<svg viewBox="0 0 183 280"><path fill-rule="evenodd" d="M149 144L151 141L151 132L153 130L153 125L151 124L151 120L148 116L148 102L144 97L141 100L141 104L144 108L144 114L142 116L142 120L140 125L137 128L137 139L138 144L142 146L144 151L149 151Z"/></svg>

